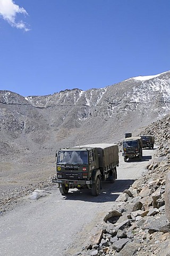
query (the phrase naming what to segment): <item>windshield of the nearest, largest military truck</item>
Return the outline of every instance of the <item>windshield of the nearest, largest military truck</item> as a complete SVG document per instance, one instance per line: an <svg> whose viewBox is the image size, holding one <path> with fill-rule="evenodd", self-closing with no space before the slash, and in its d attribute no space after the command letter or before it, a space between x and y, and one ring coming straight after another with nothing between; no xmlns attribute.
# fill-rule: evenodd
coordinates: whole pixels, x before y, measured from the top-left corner
<svg viewBox="0 0 170 256"><path fill-rule="evenodd" d="M58 151L57 163L87 164L88 163L87 151L77 151L77 150L76 151L74 150Z"/></svg>

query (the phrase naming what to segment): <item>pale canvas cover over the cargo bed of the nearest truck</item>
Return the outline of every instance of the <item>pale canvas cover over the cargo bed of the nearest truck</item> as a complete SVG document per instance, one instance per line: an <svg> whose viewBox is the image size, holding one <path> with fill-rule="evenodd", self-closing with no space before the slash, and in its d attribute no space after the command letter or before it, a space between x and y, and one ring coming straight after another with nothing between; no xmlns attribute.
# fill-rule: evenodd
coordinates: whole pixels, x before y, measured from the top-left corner
<svg viewBox="0 0 170 256"><path fill-rule="evenodd" d="M105 168L109 164L118 165L118 146L111 143L88 144L80 147L97 148L99 155L99 167Z"/></svg>

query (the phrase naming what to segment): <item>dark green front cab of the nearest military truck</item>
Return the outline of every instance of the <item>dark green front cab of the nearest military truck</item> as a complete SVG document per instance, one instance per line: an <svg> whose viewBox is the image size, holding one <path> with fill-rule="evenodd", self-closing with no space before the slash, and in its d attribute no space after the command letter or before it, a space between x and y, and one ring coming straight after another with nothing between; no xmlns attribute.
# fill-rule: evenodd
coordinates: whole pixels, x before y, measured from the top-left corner
<svg viewBox="0 0 170 256"><path fill-rule="evenodd" d="M56 177L53 182L61 184L62 194L69 188L92 185L92 170L98 169L98 154L95 148L63 148L56 152Z"/></svg>

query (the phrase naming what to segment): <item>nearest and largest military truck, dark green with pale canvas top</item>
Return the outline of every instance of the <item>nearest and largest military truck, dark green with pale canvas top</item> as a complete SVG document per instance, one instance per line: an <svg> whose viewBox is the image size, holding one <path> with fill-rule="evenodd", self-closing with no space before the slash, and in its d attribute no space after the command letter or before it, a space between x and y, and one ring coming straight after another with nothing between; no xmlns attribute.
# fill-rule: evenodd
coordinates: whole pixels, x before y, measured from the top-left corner
<svg viewBox="0 0 170 256"><path fill-rule="evenodd" d="M58 183L62 195L70 188L91 190L98 196L101 181L115 182L117 179L118 146L116 144L91 144L63 148L56 151L56 175L53 182Z"/></svg>

